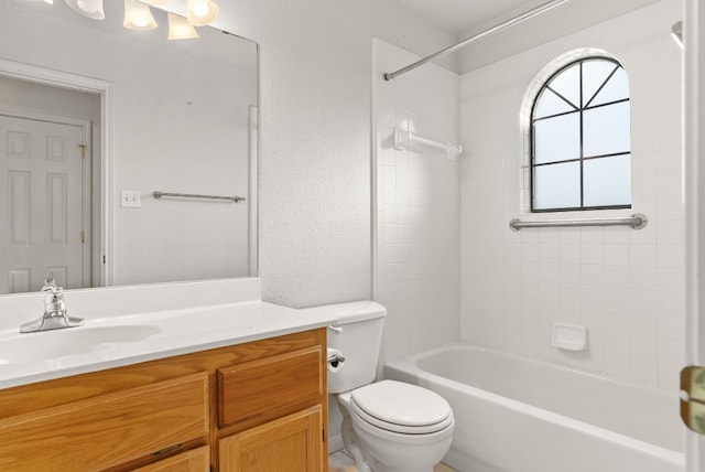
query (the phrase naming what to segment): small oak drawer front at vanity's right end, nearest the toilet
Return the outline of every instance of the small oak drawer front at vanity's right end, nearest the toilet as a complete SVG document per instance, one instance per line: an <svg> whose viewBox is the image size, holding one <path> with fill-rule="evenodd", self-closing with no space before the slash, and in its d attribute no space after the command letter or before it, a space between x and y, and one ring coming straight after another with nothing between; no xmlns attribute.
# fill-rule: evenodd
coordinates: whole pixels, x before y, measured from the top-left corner
<svg viewBox="0 0 705 472"><path fill-rule="evenodd" d="M220 427L271 419L321 401L323 347L312 346L218 371Z"/></svg>

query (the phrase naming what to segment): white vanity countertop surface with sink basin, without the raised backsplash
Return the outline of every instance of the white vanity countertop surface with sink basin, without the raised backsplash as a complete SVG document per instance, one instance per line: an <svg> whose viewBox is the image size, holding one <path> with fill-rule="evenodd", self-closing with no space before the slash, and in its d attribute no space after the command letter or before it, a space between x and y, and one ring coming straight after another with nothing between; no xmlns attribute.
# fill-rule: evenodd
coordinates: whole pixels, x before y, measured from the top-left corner
<svg viewBox="0 0 705 472"><path fill-rule="evenodd" d="M86 317L84 326L37 333L20 334L19 326L0 329L0 388L280 336L335 321L327 310L247 301Z"/></svg>

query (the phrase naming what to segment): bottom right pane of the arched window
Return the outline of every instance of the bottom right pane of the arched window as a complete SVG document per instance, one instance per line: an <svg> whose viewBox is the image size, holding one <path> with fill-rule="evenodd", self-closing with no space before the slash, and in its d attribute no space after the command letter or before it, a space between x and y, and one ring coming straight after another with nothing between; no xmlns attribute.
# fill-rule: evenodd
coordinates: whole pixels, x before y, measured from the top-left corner
<svg viewBox="0 0 705 472"><path fill-rule="evenodd" d="M614 155L583 163L585 206L631 204L631 157Z"/></svg>

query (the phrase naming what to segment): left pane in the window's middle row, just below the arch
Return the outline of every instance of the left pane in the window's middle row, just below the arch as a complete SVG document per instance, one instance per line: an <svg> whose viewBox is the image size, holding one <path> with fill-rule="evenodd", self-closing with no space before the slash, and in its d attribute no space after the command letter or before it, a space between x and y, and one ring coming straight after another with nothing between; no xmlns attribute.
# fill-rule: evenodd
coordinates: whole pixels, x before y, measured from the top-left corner
<svg viewBox="0 0 705 472"><path fill-rule="evenodd" d="M535 121L533 139L534 163L536 164L579 158L579 114L573 112Z"/></svg>

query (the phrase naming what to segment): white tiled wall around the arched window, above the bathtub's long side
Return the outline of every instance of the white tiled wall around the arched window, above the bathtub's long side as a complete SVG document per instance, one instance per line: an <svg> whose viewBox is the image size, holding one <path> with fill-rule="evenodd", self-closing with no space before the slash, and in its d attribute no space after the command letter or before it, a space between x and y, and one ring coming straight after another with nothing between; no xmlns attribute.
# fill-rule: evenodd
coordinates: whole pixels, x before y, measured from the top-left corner
<svg viewBox="0 0 705 472"><path fill-rule="evenodd" d="M684 361L682 50L677 0L610 20L462 78L463 339L673 389ZM631 89L632 210L530 214L519 115L555 57L581 47L614 54ZM649 225L509 229L510 219L628 216ZM554 322L589 330L589 351L551 346Z"/></svg>

